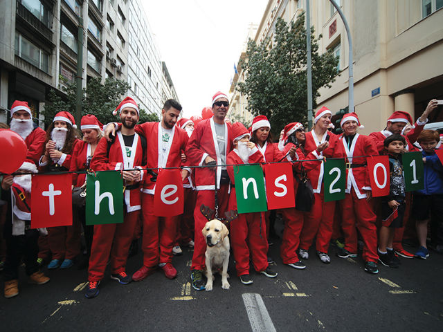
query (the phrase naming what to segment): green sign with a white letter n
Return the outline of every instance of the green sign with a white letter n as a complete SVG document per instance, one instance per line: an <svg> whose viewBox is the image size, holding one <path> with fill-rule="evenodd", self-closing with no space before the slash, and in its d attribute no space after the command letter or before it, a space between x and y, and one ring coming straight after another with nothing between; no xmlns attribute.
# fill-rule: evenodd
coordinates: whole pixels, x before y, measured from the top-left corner
<svg viewBox="0 0 443 332"><path fill-rule="evenodd" d="M234 166L234 180L238 213L267 211L260 165Z"/></svg>

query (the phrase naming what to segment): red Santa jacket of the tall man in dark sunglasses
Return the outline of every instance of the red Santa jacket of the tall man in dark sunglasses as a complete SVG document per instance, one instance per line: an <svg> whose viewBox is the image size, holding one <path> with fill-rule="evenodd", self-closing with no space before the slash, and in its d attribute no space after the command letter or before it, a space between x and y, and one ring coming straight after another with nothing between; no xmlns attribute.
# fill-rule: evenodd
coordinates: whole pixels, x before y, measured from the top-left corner
<svg viewBox="0 0 443 332"><path fill-rule="evenodd" d="M225 154L228 156L233 149L230 137L231 124L224 124L225 128ZM204 160L210 156L221 165L221 156L215 133L214 119L202 120L197 124L186 147L186 157L190 165L204 165ZM226 160L226 158L225 158ZM220 187L221 167L217 167L217 188ZM195 185L197 190L214 190L214 171L209 167L195 168Z"/></svg>

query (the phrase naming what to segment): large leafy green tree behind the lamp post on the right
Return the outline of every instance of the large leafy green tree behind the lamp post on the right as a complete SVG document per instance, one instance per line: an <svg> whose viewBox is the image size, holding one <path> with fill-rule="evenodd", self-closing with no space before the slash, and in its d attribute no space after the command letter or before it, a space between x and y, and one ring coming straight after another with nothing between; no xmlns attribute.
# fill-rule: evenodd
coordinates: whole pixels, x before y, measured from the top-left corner
<svg viewBox="0 0 443 332"><path fill-rule="evenodd" d="M312 94L316 107L318 90L334 82L338 58L332 51L318 53L318 38L311 28ZM269 118L273 133L289 122L307 122L307 51L305 13L288 24L279 18L274 39L256 44L249 40L242 61L246 80L236 89L248 100L248 111Z"/></svg>

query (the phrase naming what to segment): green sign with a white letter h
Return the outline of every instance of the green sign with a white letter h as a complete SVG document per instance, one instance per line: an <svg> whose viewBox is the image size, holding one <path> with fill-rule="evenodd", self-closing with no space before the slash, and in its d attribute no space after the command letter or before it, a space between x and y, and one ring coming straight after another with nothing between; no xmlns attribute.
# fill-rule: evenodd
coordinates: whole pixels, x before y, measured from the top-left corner
<svg viewBox="0 0 443 332"><path fill-rule="evenodd" d="M123 223L123 180L119 172L96 172L86 180L86 224Z"/></svg>

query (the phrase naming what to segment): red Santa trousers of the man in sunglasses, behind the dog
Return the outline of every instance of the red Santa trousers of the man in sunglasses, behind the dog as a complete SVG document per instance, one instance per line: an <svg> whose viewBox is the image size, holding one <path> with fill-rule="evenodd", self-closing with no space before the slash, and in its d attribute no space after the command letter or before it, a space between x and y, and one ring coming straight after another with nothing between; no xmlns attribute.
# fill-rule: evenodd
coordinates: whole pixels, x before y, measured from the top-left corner
<svg viewBox="0 0 443 332"><path fill-rule="evenodd" d="M228 185L220 185L220 189L217 190L217 199L219 202L219 216L224 218L224 212L228 210ZM197 191L197 203L195 204L194 210L194 221L195 221L195 235L194 235L194 255L192 255L192 265L191 270L204 270L206 268L205 264L205 252L206 252L206 239L201 234L201 230L205 227L208 219L201 214L200 207L204 204L211 209L214 209L215 199L214 190L199 190Z"/></svg>

